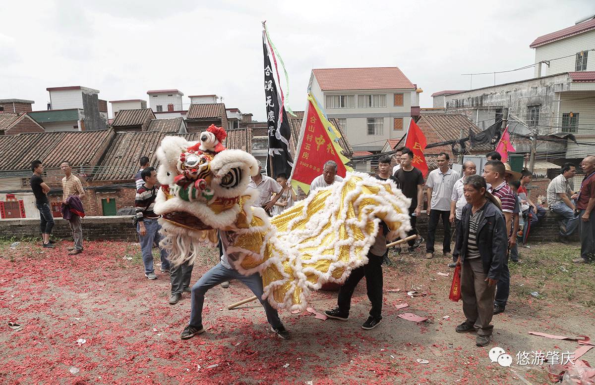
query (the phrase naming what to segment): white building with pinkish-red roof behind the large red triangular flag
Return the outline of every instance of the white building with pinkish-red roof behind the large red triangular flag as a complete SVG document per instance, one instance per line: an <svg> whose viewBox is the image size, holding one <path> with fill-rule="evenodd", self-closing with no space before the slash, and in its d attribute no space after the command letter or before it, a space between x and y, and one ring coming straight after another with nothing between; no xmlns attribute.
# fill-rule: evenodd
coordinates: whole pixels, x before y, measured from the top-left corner
<svg viewBox="0 0 595 385"><path fill-rule="evenodd" d="M354 151L379 152L419 115L421 90L397 67L318 68L310 89L328 117L339 119Z"/></svg>

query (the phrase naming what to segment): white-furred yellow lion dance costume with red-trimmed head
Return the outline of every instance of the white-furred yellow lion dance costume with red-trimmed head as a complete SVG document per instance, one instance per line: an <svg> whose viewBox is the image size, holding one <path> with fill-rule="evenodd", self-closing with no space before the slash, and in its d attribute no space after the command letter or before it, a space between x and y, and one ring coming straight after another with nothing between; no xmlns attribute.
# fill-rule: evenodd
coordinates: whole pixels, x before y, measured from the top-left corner
<svg viewBox="0 0 595 385"><path fill-rule="evenodd" d="M312 290L343 283L368 262L381 220L388 239L411 229L411 201L392 182L359 172L270 218L250 206L258 194L248 188L259 172L256 159L225 149L225 137L212 125L198 143L170 136L157 150L155 213L162 216L162 247L174 266L193 261L203 245L215 247L218 230L231 232L230 263L242 274L261 274L263 299L275 308L304 310Z"/></svg>

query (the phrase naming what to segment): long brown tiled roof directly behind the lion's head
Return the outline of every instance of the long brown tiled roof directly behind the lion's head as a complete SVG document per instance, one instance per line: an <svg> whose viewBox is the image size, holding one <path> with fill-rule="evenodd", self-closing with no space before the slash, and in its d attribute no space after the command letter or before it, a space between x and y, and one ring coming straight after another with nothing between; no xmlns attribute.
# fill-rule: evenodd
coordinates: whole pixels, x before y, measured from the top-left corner
<svg viewBox="0 0 595 385"><path fill-rule="evenodd" d="M161 144L161 140L165 136L171 135L159 131L116 132L111 146L109 146L101 162L99 162L99 172L94 173L92 179L95 181L123 181L132 179L134 174L139 171L139 159L142 156L148 156L149 164L153 167L158 167L159 162L155 156L155 152L159 144ZM175 136L178 135L175 134ZM200 132L192 132L179 136L189 141L198 141L200 135ZM228 131L226 146L228 149L251 149L252 131L250 129Z"/></svg>

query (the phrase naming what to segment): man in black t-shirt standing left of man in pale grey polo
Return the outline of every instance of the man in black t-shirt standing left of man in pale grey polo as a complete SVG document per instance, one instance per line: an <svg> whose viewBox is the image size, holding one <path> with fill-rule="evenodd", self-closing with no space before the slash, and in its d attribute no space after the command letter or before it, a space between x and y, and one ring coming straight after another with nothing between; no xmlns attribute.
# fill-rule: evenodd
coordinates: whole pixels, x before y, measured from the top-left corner
<svg viewBox="0 0 595 385"><path fill-rule="evenodd" d="M409 220L411 221L411 231L407 233L408 236L417 234L415 229L415 222L421 213L421 205L424 203L422 188L424 187L424 175L415 168L411 162L413 160L413 152L407 147L403 149L401 154L401 168L394 173L394 177L399 179L399 185L403 195L411 198L411 206L409 206ZM418 235L417 239L408 241L409 253L412 253L419 247L424 238Z"/></svg>

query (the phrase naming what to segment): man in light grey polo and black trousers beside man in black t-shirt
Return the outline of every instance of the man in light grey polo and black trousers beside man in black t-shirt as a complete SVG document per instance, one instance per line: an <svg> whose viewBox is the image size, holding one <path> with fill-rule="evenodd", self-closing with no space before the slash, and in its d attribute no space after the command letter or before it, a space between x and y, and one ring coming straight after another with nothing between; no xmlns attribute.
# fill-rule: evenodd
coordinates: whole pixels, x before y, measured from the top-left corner
<svg viewBox="0 0 595 385"><path fill-rule="evenodd" d="M452 258L450 254L450 197L452 197L452 189L455 185L459 175L453 172L449 166L449 154L440 153L436 158L438 168L432 170L428 174L428 179L425 185L428 187L428 239L425 242L425 257L434 257L434 239L436 238L436 228L438 221L442 217L442 224L444 226L444 241L442 242L442 253L445 257Z"/></svg>

